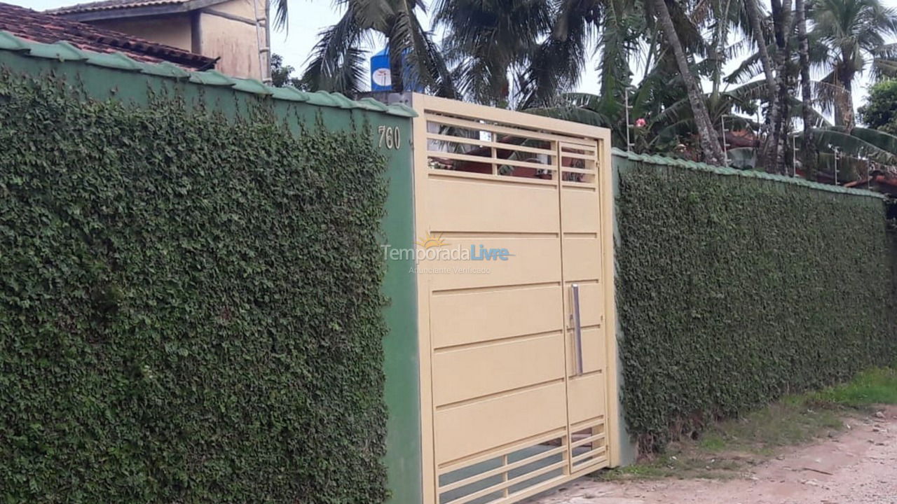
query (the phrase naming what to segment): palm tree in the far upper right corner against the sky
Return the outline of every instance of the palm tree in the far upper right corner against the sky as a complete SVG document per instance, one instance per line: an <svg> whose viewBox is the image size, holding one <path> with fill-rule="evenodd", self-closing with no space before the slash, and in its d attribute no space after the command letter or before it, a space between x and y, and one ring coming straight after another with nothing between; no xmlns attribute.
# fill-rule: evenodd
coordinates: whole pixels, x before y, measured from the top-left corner
<svg viewBox="0 0 897 504"><path fill-rule="evenodd" d="M881 0L812 0L810 17L814 33L828 48L835 124L850 131L855 126L853 82L867 70L867 63L884 46L886 35L897 34L897 11Z"/></svg>

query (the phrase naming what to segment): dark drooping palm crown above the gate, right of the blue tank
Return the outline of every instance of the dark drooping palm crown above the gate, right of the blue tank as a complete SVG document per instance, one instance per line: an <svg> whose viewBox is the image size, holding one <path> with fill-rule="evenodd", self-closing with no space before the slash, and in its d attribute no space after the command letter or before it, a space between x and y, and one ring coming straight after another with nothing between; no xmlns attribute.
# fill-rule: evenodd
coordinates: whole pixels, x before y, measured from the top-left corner
<svg viewBox="0 0 897 504"><path fill-rule="evenodd" d="M441 0L435 13L465 96L515 109L570 91L596 49L605 103L615 104L645 34L631 0Z"/></svg>

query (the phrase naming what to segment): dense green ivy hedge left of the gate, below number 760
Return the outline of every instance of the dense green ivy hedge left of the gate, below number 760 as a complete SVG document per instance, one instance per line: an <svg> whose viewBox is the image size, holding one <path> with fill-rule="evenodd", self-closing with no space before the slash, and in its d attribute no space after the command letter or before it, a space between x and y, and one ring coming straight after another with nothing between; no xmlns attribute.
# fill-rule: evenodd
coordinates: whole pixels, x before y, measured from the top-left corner
<svg viewBox="0 0 897 504"><path fill-rule="evenodd" d="M0 72L0 500L384 500L384 160L268 112Z"/></svg>

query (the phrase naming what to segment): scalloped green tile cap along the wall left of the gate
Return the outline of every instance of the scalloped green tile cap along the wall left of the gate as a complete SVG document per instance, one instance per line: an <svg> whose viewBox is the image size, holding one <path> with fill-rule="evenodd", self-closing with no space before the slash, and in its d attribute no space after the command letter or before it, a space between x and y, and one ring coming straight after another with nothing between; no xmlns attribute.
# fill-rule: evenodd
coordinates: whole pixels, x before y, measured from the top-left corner
<svg viewBox="0 0 897 504"><path fill-rule="evenodd" d="M311 105L320 107L361 109L398 117L417 117L414 109L410 109L405 105L383 105L370 98L361 101L350 100L340 93L327 91L306 92L293 88L275 88L274 86L260 83L255 79L238 79L214 70L190 72L167 61L144 63L135 61L135 59L122 53L106 54L83 51L65 41L55 44L41 44L21 39L4 30L0 30L0 50L21 51L28 56L57 59L62 62L82 61L89 65L114 68L125 72L158 75L170 79L189 79L191 83L204 86L231 87L236 91L248 92L262 97L270 96L274 100L307 101Z"/></svg>

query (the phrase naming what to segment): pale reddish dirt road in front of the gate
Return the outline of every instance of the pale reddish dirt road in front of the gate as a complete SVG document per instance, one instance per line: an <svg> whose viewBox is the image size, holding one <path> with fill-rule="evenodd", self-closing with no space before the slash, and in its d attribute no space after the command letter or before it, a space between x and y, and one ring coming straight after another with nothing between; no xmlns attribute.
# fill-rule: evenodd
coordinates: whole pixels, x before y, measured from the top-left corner
<svg viewBox="0 0 897 504"><path fill-rule="evenodd" d="M727 480L566 485L527 504L897 504L897 407Z"/></svg>

